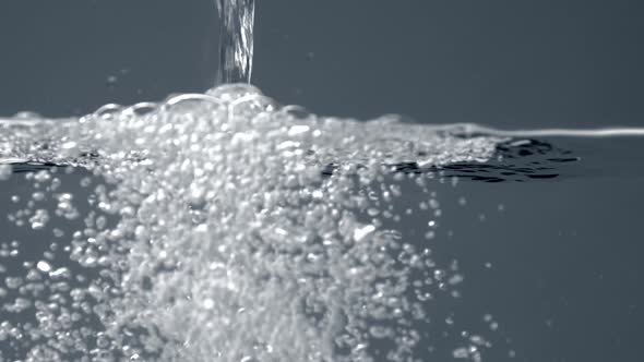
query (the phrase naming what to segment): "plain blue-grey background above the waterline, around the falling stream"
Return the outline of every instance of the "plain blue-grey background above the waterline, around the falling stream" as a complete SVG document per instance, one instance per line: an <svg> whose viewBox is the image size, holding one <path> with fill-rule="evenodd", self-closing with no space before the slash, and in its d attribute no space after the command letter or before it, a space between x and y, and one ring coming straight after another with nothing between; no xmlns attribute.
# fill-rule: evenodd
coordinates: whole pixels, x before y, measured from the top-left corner
<svg viewBox="0 0 644 362"><path fill-rule="evenodd" d="M2 1L0 114L203 90L214 14L210 0ZM334 116L642 125L642 19L636 0L258 1L253 83Z"/></svg>

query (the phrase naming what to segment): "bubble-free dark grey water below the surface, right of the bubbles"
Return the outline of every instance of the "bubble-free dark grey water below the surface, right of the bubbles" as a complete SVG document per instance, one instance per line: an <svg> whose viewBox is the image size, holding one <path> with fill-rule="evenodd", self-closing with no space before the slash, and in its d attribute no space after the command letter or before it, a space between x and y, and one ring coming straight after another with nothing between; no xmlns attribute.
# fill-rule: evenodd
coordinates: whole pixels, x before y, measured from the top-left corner
<svg viewBox="0 0 644 362"><path fill-rule="evenodd" d="M579 157L550 164L557 177L441 184L441 200L451 201L441 204L441 230L451 232L434 251L458 255L466 276L464 298L444 307L469 323L492 314L496 346L510 339L518 361L637 360L641 141L553 142ZM465 206L453 202L460 195ZM503 349L486 355L511 361Z"/></svg>

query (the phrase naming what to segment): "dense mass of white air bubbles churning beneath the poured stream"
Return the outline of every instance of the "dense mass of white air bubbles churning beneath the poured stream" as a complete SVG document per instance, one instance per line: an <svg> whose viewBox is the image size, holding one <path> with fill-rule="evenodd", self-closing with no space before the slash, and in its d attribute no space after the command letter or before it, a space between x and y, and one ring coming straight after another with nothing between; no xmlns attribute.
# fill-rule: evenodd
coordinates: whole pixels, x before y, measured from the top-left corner
<svg viewBox="0 0 644 362"><path fill-rule="evenodd" d="M43 168L0 166L34 184L10 221L44 244L0 289L1 350L25 361L416 361L463 276L432 260L434 174L399 165L485 161L500 141L315 117L248 85L2 126L0 158ZM468 340L454 357L477 361Z"/></svg>

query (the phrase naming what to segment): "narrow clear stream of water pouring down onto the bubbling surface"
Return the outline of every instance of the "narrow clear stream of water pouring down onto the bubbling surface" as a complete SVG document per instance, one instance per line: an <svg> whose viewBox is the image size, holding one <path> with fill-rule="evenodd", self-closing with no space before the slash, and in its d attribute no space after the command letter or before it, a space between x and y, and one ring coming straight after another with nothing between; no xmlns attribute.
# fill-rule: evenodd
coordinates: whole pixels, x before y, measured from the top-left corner
<svg viewBox="0 0 644 362"><path fill-rule="evenodd" d="M253 57L254 0L215 0L222 31L217 84L250 83Z"/></svg>

